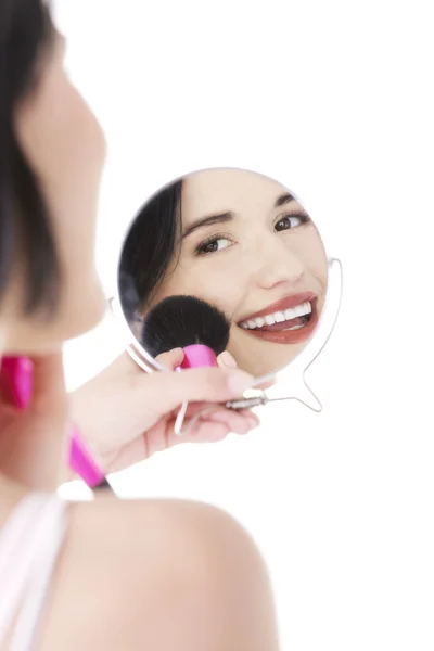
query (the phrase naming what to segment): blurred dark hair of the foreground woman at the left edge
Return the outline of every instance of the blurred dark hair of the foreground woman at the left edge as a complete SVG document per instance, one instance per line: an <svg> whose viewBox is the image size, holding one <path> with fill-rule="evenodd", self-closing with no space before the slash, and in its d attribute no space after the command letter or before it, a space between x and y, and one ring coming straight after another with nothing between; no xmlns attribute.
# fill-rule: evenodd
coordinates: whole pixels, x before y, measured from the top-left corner
<svg viewBox="0 0 434 651"><path fill-rule="evenodd" d="M0 2L0 298L16 256L24 261L25 315L58 304L60 264L49 212L15 132L20 105L35 90L55 30L42 0Z"/></svg>

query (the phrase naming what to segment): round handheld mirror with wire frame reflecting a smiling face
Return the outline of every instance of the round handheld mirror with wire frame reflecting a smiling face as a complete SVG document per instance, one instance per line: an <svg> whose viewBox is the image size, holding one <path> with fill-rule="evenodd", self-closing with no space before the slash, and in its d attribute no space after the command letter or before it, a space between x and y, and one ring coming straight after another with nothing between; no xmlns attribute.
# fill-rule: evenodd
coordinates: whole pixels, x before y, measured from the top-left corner
<svg viewBox="0 0 434 651"><path fill-rule="evenodd" d="M199 345L214 352L204 366L228 352L258 387L272 380L256 405L295 398L321 409L304 373L333 330L342 270L278 181L215 168L159 189L126 233L117 290L112 307L144 370L167 370L155 357L178 346L197 361Z"/></svg>

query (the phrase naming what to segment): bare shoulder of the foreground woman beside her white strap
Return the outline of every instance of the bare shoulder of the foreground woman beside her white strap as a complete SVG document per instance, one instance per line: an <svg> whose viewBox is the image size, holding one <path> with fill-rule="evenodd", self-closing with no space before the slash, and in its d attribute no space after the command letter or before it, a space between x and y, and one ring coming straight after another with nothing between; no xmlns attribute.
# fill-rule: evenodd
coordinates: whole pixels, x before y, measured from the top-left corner
<svg viewBox="0 0 434 651"><path fill-rule="evenodd" d="M253 540L227 513L181 500L73 505L41 635L43 651L278 648Z"/></svg>

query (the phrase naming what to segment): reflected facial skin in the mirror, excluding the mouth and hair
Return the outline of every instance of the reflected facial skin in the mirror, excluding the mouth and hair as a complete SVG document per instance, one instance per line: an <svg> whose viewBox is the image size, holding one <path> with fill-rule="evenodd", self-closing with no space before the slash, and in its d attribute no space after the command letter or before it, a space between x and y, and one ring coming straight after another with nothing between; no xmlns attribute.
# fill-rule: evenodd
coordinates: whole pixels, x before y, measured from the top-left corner
<svg viewBox="0 0 434 651"><path fill-rule="evenodd" d="M303 222L306 212L296 201L275 207L285 192L272 179L245 170L210 169L187 177L183 233L207 215L232 212L234 218L183 238L179 264L173 263L153 301L193 294L219 307L231 318L228 350L256 376L289 363L307 342L259 340L242 330L240 320L301 292L316 294L320 314L327 291L327 257L315 225Z"/></svg>

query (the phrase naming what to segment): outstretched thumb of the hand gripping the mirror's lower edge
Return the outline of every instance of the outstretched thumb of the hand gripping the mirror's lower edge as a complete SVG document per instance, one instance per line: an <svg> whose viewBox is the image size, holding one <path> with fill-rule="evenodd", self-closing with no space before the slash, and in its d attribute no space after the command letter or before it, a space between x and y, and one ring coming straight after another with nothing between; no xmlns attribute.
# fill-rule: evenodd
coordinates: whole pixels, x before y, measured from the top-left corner
<svg viewBox="0 0 434 651"><path fill-rule="evenodd" d="M239 369L200 368L151 373L143 378L141 392L145 392L152 405L163 414L173 411L184 400L224 403L240 398L254 383L253 375Z"/></svg>

